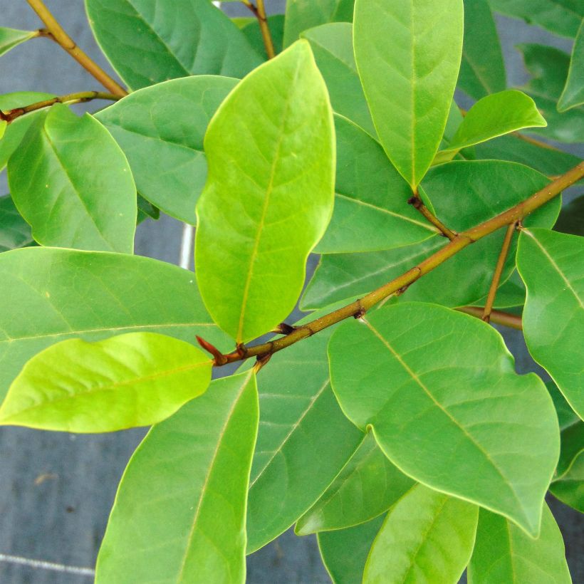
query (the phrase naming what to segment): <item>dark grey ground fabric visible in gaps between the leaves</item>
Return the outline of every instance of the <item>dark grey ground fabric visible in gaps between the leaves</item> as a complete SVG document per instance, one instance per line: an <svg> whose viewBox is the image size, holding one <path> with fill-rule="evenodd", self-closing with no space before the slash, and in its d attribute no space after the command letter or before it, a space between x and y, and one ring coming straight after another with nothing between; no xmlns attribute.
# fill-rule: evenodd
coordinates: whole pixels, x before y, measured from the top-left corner
<svg viewBox="0 0 584 584"><path fill-rule="evenodd" d="M46 4L78 45L113 75L93 39L83 0L46 0ZM266 0L271 14L283 13L285 4L286 0ZM245 6L235 2L224 3L223 9L230 16L250 14ZM0 26L24 30L42 26L24 0L0 0L0 14ZM497 24L510 86L528 80L515 48L518 43L541 43L571 51L567 39L521 21L498 16ZM100 89L98 83L47 39L33 39L0 59L0 94L34 90L64 95L93 89ZM462 107L469 107L464 95L457 95L457 101ZM93 111L98 107L100 103L94 102L76 105L75 110ZM580 157L584 155L578 145L568 150ZM2 173L0 195L7 192L6 175ZM148 219L137 228L135 252L178 264L182 231L179 221L163 214L159 221ZM318 258L311 258L310 270L317 261ZM516 356L518 372L538 371L521 333L502 329L501 333ZM15 563L4 556L93 568L118 481L144 435L142 429L102 435L0 429L0 583L91 582L90 570L54 571ZM549 503L564 535L573 581L584 582L583 518L555 499ZM330 578L320 562L316 539L298 538L290 530L249 556L248 582L320 584L330 582Z"/></svg>

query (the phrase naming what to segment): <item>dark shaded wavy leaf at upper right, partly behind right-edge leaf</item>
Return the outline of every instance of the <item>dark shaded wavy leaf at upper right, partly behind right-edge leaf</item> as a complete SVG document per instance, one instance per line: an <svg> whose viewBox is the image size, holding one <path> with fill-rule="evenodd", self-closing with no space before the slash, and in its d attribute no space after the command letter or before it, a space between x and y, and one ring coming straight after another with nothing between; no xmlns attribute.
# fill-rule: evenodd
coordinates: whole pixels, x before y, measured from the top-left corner
<svg viewBox="0 0 584 584"><path fill-rule="evenodd" d="M538 110L548 122L545 129L531 128L526 133L560 142L584 140L584 107L558 112L558 100L568 75L570 56L549 46L522 44L517 48L523 54L526 68L533 75L521 89L533 97Z"/></svg>

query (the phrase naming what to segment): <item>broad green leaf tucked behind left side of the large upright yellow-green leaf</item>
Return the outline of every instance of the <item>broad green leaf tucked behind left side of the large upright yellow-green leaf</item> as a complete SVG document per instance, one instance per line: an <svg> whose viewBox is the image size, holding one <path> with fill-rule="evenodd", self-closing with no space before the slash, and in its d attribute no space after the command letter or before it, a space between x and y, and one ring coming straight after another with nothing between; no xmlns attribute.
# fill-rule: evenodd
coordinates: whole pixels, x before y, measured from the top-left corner
<svg viewBox="0 0 584 584"><path fill-rule="evenodd" d="M181 221L207 178L203 138L237 80L212 75L174 79L130 93L95 117L127 156L140 194Z"/></svg>

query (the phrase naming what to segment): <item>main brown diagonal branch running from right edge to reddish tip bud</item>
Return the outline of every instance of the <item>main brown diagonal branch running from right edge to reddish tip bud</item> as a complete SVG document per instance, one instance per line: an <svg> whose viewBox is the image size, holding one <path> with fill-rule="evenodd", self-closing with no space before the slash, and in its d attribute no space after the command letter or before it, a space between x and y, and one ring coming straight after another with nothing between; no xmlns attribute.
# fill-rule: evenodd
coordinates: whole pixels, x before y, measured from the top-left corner
<svg viewBox="0 0 584 584"><path fill-rule="evenodd" d="M384 284L377 290L368 293L363 298L356 300L333 311L325 316L321 316L316 320L312 320L306 325L301 325L295 328L286 336L278 338L276 340L270 340L268 343L261 343L261 345L254 345L251 347L246 347L245 345L239 345L239 347L233 352L227 355L222 355L221 361L224 363L234 363L236 361L242 361L250 357L259 358L259 360L264 360L267 355L273 355L298 341L315 335L320 330L328 328L336 323L340 323L341 320L346 318L359 318L363 316L372 306L375 306L378 302L392 296L395 293L402 293L407 290L410 284L414 283L418 278L424 276L424 274L437 268L440 264L443 264L447 259L452 258L459 251L464 249L466 246L473 244L474 241L478 241L483 237L493 233L497 229L501 229L509 224L515 224L517 221L521 221L523 217L535 211L543 204L551 201L553 197L556 197L563 189L567 189L570 184L580 180L584 177L584 162L574 167L572 170L568 170L565 174L555 181L548 184L547 187L541 189L541 191L532 194L531 197L525 199L515 207L511 207L507 211L496 215L488 221L484 221L471 229L462 231L462 233L457 234L457 236L452 239L446 246L442 249L436 251L432 256L422 261L417 266L414 266L401 276L393 279L392 281ZM481 311L482 313L482 311ZM220 364L215 361L214 365L219 366Z"/></svg>

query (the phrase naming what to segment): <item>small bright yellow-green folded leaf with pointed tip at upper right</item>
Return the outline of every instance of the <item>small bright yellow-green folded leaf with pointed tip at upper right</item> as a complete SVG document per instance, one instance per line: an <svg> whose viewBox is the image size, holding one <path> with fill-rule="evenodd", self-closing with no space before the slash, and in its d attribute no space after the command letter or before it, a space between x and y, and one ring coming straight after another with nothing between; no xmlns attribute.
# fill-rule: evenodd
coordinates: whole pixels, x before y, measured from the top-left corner
<svg viewBox="0 0 584 584"><path fill-rule="evenodd" d="M463 148L524 127L546 125L535 102L525 93L509 89L487 95L472 106L447 150L438 152L434 162L451 160Z"/></svg>

